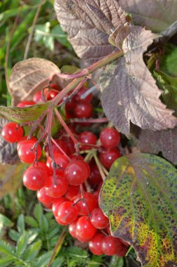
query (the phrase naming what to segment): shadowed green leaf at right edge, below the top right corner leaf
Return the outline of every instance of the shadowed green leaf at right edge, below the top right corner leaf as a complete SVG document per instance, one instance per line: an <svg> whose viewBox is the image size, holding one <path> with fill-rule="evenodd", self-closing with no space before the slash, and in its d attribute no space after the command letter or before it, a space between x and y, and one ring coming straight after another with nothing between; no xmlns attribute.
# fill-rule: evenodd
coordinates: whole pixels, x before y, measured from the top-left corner
<svg viewBox="0 0 177 267"><path fill-rule="evenodd" d="M171 76L177 77L177 46L167 44L164 48L164 56L160 60L160 70Z"/></svg>

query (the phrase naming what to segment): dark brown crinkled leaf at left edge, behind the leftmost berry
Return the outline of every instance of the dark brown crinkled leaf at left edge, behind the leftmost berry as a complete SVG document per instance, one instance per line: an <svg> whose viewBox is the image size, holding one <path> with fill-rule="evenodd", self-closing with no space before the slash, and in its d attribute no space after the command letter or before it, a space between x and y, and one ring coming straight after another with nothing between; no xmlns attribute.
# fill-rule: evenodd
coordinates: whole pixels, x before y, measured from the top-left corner
<svg viewBox="0 0 177 267"><path fill-rule="evenodd" d="M0 118L0 133L7 119ZM16 143L8 143L0 136L0 162L3 164L15 164L19 161Z"/></svg>

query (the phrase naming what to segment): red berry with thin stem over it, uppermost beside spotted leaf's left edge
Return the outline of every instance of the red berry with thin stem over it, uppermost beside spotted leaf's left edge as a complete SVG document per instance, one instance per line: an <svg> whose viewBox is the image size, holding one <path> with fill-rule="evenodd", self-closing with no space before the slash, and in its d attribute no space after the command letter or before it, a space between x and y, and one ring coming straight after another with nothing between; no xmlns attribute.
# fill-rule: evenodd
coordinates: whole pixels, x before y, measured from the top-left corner
<svg viewBox="0 0 177 267"><path fill-rule="evenodd" d="M87 192L84 193L85 201L80 200L81 198L82 195L80 194L74 200L75 203L77 202L76 207L78 207L78 213L80 215L89 215L88 213L90 213L93 209L98 207L97 199L92 193L87 193Z"/></svg>

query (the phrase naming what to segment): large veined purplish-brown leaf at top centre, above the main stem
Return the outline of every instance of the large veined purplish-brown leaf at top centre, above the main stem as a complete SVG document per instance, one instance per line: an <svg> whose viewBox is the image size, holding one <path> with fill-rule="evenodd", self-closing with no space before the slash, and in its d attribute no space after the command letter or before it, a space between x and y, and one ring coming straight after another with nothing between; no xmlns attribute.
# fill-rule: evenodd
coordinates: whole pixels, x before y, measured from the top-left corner
<svg viewBox="0 0 177 267"><path fill-rule="evenodd" d="M92 64L116 48L108 37L127 23L117 0L55 0L55 11L77 55Z"/></svg>

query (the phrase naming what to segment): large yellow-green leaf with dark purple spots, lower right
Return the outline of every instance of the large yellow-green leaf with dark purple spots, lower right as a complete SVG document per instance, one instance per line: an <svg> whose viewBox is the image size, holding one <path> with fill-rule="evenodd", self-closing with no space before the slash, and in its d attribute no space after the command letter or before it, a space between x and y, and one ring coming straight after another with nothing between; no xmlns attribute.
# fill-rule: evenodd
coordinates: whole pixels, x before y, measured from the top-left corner
<svg viewBox="0 0 177 267"><path fill-rule="evenodd" d="M111 233L134 247L143 266L176 263L176 186L173 165L155 155L132 153L113 163L101 188L99 206Z"/></svg>

